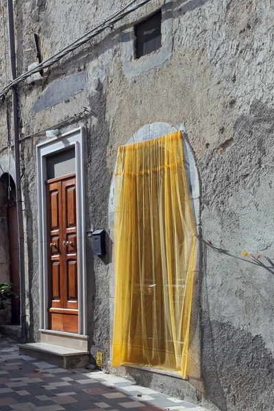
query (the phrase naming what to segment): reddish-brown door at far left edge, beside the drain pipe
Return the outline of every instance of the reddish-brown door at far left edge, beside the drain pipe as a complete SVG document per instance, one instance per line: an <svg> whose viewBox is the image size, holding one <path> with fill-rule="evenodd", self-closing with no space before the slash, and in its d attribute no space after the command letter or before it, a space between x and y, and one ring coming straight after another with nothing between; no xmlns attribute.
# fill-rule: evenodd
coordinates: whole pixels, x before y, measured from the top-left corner
<svg viewBox="0 0 274 411"><path fill-rule="evenodd" d="M13 284L12 291L20 295L18 219L16 205L8 207L8 229L10 238L10 282ZM20 324L20 298L12 299L12 324Z"/></svg>

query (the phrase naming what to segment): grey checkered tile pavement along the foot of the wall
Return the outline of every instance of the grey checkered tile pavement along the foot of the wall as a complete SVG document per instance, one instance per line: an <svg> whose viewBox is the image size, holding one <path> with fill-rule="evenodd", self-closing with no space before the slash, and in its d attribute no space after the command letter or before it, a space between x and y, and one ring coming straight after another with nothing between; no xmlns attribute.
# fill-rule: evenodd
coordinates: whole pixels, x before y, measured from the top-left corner
<svg viewBox="0 0 274 411"><path fill-rule="evenodd" d="M20 411L203 411L102 371L63 370L21 356L16 343L0 338L0 410Z"/></svg>

